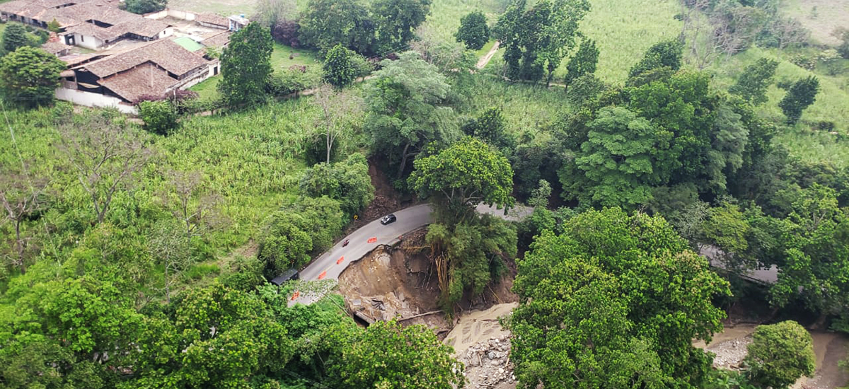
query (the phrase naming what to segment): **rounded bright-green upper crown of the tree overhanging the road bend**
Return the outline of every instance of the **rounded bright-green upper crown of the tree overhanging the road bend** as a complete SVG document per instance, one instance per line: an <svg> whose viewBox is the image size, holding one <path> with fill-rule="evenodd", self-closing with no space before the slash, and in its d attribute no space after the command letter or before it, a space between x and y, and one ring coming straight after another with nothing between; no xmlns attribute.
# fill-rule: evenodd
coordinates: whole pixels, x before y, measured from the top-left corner
<svg viewBox="0 0 849 389"><path fill-rule="evenodd" d="M515 200L513 169L503 155L475 138L463 138L436 155L417 159L410 188L430 197L446 215L463 217L478 204L509 207Z"/></svg>

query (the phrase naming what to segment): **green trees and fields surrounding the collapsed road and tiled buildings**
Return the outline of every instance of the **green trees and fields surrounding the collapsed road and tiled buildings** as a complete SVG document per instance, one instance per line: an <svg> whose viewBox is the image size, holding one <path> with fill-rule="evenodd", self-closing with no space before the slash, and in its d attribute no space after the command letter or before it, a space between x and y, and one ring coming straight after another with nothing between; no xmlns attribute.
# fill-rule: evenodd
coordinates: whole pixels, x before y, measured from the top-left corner
<svg viewBox="0 0 849 389"><path fill-rule="evenodd" d="M801 324L849 332L849 25L778 0L479 5L261 0L220 76L138 117L53 99L46 31L4 23L0 387L464 386L432 330L268 283L358 226L374 171L433 207L445 315L515 270L518 387L811 376ZM768 311L745 366L714 369L694 341L745 304Z"/></svg>

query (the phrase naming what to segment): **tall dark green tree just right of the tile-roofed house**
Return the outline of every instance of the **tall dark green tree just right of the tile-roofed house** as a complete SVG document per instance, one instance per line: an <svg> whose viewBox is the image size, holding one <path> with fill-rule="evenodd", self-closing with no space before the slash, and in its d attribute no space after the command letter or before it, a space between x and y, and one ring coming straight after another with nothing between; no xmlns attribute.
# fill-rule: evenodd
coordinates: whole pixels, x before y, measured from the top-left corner
<svg viewBox="0 0 849 389"><path fill-rule="evenodd" d="M233 33L221 54L222 80L218 83L228 104L258 104L266 99L272 50L271 34L259 23Z"/></svg>

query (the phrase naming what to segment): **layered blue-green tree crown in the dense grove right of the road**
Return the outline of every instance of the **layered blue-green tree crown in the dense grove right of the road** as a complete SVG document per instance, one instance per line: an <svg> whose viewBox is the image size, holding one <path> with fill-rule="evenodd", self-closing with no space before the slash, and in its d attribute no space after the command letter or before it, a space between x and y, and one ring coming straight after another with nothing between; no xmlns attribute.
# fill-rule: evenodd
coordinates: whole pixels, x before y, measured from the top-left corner
<svg viewBox="0 0 849 389"><path fill-rule="evenodd" d="M669 147L672 133L622 107L599 110L589 128L574 163L560 173L564 188L587 204L633 208L649 200L651 185L661 182L658 150Z"/></svg>

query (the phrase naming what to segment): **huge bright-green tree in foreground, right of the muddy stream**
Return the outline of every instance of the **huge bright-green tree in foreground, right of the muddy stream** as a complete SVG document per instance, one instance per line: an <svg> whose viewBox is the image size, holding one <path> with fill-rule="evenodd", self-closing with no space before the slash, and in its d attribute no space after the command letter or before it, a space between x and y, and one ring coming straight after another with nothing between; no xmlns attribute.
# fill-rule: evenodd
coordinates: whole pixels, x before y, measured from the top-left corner
<svg viewBox="0 0 849 389"><path fill-rule="evenodd" d="M661 217L619 209L568 219L518 262L509 319L522 387L700 387L728 283Z"/></svg>

